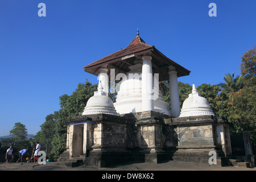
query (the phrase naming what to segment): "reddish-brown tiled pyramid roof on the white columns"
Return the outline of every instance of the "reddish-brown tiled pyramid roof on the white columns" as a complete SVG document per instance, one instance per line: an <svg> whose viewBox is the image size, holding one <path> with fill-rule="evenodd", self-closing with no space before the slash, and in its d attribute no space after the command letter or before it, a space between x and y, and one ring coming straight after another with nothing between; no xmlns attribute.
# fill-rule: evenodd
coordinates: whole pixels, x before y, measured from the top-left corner
<svg viewBox="0 0 256 182"><path fill-rule="evenodd" d="M152 56L152 69L154 73L159 73L159 81L168 80L168 67L173 65L177 69L177 76L187 76L190 71L181 67L168 57L164 56L154 46L150 46L137 34L133 41L124 49L114 52L84 67L84 71L99 74L102 65L108 65L108 68L117 69L115 74L129 72L129 66L133 65L136 58L141 58L144 54ZM110 70L108 74L110 73Z"/></svg>

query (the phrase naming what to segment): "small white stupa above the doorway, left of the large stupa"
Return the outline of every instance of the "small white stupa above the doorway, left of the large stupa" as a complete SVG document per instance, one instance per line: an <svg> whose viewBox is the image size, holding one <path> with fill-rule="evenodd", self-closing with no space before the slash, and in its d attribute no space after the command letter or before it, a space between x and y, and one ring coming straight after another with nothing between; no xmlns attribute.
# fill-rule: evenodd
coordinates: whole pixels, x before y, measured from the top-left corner
<svg viewBox="0 0 256 182"><path fill-rule="evenodd" d="M101 81L98 84L98 91L94 92L94 96L87 101L82 115L100 113L117 115L113 101L103 91Z"/></svg>

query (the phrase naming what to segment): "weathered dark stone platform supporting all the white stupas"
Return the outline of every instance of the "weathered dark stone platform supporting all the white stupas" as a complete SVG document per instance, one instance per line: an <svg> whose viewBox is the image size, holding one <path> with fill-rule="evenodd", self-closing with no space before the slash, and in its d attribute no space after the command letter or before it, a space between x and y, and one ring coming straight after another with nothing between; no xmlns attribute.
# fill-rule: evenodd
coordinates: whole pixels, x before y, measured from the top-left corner
<svg viewBox="0 0 256 182"><path fill-rule="evenodd" d="M170 160L208 163L209 152L224 166L229 155L228 124L213 115L171 118L146 111L123 115L92 114L67 121L69 159L83 156L87 166L164 163Z"/></svg>

